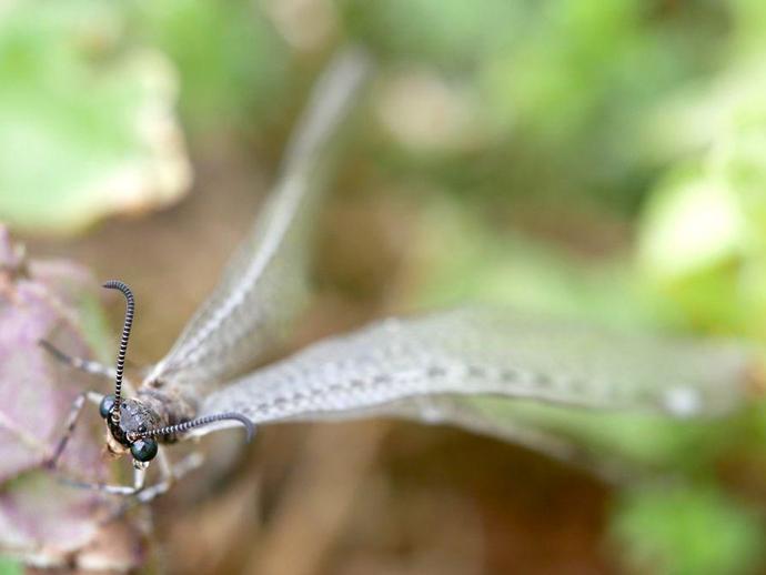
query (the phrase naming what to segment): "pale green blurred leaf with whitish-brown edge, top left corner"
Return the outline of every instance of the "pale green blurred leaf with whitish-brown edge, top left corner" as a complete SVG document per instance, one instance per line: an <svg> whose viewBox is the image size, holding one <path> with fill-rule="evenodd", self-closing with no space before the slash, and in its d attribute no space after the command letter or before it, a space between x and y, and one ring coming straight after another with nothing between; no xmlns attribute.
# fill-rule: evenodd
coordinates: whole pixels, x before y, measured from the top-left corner
<svg viewBox="0 0 766 575"><path fill-rule="evenodd" d="M190 169L173 70L122 42L119 4L12 3L0 14L0 219L72 232L177 200Z"/></svg>

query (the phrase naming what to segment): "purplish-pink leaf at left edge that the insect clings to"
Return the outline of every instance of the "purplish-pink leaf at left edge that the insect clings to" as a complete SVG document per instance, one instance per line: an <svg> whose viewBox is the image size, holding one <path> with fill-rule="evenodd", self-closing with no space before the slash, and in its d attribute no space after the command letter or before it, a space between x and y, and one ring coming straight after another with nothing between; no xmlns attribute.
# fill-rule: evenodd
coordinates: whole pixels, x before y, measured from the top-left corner
<svg viewBox="0 0 766 575"><path fill-rule="evenodd" d="M114 512L108 496L64 486L56 474L40 468L89 380L73 377L39 341L51 341L75 356L92 356L79 315L85 307L78 307L78 302L87 301L82 292L94 299L94 285L90 274L73 264L28 262L0 229L0 549L37 563L71 562L72 554L99 537L104 519ZM85 410L60 460L60 473L97 482L113 478L102 458L102 437L103 423L93 410ZM139 562L135 533L112 545L115 553L132 551L113 554L111 561L105 557L107 565L124 568Z"/></svg>

